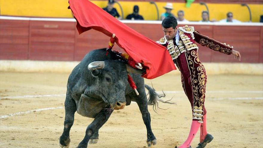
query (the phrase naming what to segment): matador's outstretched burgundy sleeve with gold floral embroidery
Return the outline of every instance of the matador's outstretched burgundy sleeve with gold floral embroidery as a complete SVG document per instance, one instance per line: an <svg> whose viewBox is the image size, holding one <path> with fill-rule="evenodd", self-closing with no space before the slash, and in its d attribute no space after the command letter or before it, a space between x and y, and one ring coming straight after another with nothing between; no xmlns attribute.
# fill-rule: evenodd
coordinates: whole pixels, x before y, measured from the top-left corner
<svg viewBox="0 0 263 148"><path fill-rule="evenodd" d="M207 36L202 35L196 30L193 32L195 36L195 41L198 42L202 46L206 46L214 51L219 51L224 54L230 55L232 53L233 46L225 45L221 42L218 42L214 39L211 39Z"/></svg>

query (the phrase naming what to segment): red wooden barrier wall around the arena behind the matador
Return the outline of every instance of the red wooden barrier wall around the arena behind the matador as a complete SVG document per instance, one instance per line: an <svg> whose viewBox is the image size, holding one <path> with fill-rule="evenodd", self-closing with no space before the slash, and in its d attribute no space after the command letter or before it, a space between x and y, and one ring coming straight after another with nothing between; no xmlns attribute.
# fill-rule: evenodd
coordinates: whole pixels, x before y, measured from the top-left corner
<svg viewBox="0 0 263 148"><path fill-rule="evenodd" d="M89 51L108 46L108 36L95 30L78 35L75 25L76 22L1 19L0 59L79 61ZM163 36L160 24L127 25L153 40ZM263 62L263 26L194 26L200 33L240 51L242 62ZM117 45L113 49L123 51ZM202 62L235 62L233 56L201 45L198 53Z"/></svg>

